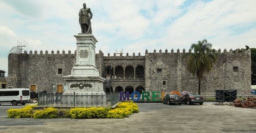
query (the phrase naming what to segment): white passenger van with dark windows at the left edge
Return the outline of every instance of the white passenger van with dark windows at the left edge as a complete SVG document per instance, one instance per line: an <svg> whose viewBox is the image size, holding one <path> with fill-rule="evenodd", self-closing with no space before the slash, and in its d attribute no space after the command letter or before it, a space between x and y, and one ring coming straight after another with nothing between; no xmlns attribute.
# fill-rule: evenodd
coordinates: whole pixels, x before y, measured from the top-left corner
<svg viewBox="0 0 256 133"><path fill-rule="evenodd" d="M2 88L0 89L1 103L11 103L12 105L30 103L29 88Z"/></svg>

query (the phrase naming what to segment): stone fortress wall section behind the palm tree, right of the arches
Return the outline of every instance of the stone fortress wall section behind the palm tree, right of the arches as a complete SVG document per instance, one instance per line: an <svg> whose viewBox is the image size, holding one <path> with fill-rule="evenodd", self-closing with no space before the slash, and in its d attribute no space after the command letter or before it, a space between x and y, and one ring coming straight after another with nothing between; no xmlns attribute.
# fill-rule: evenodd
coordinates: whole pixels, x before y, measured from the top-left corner
<svg viewBox="0 0 256 133"><path fill-rule="evenodd" d="M189 51L190 53L191 51ZM209 74L201 81L202 95L215 95L215 90L237 90L238 95L250 94L250 49L228 52L224 49L216 51L218 59ZM145 54L145 86L150 91L173 90L198 93L198 79L186 70L185 49L182 53L171 50L164 53ZM160 71L162 69L162 71ZM166 85L163 85L165 82Z"/></svg>

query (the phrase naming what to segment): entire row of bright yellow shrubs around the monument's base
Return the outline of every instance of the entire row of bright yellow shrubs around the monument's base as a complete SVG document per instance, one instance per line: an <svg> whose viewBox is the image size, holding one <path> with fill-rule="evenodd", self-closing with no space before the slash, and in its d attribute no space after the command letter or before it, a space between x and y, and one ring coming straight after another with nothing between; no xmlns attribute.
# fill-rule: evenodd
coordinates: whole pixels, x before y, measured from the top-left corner
<svg viewBox="0 0 256 133"><path fill-rule="evenodd" d="M8 118L126 118L130 114L139 112L139 107L133 101L119 103L115 109L104 107L57 109L48 107L34 110L34 106L36 105L27 105L21 109L8 109Z"/></svg>

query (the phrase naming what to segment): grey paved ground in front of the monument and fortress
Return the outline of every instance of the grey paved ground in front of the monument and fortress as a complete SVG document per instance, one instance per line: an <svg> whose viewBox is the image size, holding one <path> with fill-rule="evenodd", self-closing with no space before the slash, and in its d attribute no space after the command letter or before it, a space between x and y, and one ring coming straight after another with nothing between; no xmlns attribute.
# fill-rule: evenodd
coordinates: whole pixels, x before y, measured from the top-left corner
<svg viewBox="0 0 256 133"><path fill-rule="evenodd" d="M8 119L0 106L0 132L256 132L256 109L203 105L138 103L125 119Z"/></svg>

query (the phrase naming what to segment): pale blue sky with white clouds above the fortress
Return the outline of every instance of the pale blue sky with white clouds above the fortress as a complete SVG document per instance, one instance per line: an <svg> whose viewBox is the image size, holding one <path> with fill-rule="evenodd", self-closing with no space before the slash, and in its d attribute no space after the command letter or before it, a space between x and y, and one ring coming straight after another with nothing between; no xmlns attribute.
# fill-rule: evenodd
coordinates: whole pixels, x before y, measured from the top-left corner
<svg viewBox="0 0 256 133"><path fill-rule="evenodd" d="M1 0L0 70L7 72L8 53L18 43L33 53L74 53L83 2L93 12L96 53L101 49L105 56L188 51L203 39L222 51L256 48L255 0Z"/></svg>

